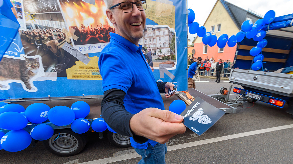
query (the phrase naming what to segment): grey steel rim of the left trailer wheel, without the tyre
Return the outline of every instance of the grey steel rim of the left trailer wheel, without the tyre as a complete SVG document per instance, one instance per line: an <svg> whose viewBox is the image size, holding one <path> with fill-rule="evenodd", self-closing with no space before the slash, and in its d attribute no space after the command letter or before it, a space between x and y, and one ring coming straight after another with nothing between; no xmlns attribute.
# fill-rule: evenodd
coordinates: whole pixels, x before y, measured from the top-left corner
<svg viewBox="0 0 293 164"><path fill-rule="evenodd" d="M51 149L59 153L70 153L77 149L79 142L73 135L67 133L60 133L59 137L58 135L59 134L55 134L49 139L49 146Z"/></svg>

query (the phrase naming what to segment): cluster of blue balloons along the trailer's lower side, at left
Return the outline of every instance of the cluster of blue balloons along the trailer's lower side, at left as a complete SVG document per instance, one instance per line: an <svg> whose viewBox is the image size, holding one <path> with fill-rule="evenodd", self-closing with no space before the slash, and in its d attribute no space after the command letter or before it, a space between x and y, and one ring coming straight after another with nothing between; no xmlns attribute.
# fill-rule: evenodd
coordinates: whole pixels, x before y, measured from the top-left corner
<svg viewBox="0 0 293 164"><path fill-rule="evenodd" d="M19 104L7 104L0 102L0 128L10 130L6 134L0 131L0 150L16 152L27 148L32 138L35 140L47 140L54 134L50 125L43 123L49 119L57 126L67 126L71 124L71 129L76 133L85 133L90 128L90 122L84 119L88 116L90 107L86 102L77 101L71 108L65 106L50 107L43 103L34 103L26 109ZM36 125L30 133L23 130L28 124ZM43 123L43 124L40 124ZM107 129L103 118L95 119L92 128L96 132L103 132ZM114 130L108 128L110 131Z"/></svg>

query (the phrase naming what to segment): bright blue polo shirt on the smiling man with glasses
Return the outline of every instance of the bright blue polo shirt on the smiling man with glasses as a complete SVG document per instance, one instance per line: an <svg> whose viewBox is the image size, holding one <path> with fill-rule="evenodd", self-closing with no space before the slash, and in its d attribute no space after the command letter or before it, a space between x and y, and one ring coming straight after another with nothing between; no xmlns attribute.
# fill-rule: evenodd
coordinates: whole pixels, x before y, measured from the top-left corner
<svg viewBox="0 0 293 164"><path fill-rule="evenodd" d="M153 72L142 53L142 45L137 47L115 33L110 33L110 37L98 61L103 92L123 90L126 93L124 107L132 114L151 107L165 110ZM132 137L130 142L132 147L138 149L147 149L148 143L152 146L157 144L150 139L139 144Z"/></svg>

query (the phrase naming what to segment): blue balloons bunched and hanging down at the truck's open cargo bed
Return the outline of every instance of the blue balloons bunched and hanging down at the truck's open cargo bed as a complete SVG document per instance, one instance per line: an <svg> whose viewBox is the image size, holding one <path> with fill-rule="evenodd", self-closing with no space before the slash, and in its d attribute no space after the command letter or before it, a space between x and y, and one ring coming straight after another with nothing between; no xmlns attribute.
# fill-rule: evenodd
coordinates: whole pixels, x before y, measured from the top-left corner
<svg viewBox="0 0 293 164"><path fill-rule="evenodd" d="M252 25L253 23L250 20L244 21L241 25L242 31L246 32L246 38L253 38L254 41L258 41L256 47L251 48L251 50L249 51L249 54L251 56L255 56L253 58L254 63L251 65L251 69L254 71L257 71L263 67L264 56L263 54L261 54L261 52L262 48L265 48L265 46L267 46L268 44L268 41L264 39L266 32L262 29L266 24L271 23L274 19L275 11L270 10L267 13L265 13L263 19L255 21L254 25Z"/></svg>

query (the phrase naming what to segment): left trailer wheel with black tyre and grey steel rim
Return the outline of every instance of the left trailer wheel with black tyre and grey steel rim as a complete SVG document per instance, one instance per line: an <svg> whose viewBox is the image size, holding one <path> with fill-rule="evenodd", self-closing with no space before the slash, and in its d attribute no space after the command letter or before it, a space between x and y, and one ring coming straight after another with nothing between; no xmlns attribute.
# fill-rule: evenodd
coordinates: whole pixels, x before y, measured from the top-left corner
<svg viewBox="0 0 293 164"><path fill-rule="evenodd" d="M43 141L45 148L59 156L73 156L79 153L86 145L85 134L77 134L69 129L54 130L51 138ZM59 135L59 137L58 137Z"/></svg>

